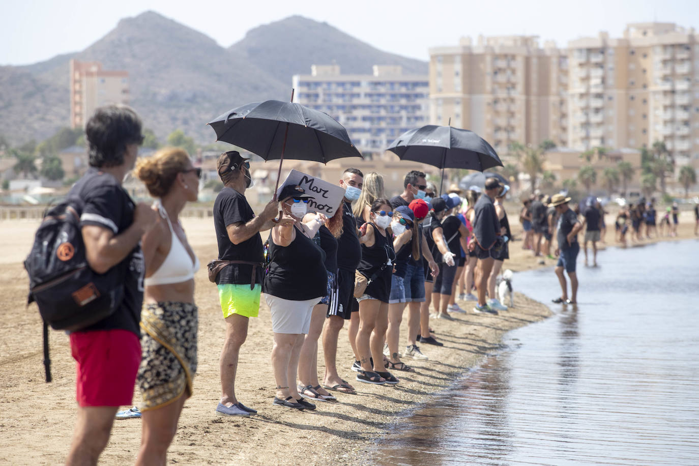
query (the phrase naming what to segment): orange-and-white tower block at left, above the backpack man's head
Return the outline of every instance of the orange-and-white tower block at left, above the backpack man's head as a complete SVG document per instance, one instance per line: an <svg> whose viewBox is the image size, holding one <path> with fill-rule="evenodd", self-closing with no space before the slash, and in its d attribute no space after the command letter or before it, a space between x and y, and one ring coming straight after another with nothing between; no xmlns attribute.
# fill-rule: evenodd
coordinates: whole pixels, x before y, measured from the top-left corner
<svg viewBox="0 0 699 466"><path fill-rule="evenodd" d="M71 127L84 128L94 110L129 103L129 73L104 71L99 61L71 60Z"/></svg>

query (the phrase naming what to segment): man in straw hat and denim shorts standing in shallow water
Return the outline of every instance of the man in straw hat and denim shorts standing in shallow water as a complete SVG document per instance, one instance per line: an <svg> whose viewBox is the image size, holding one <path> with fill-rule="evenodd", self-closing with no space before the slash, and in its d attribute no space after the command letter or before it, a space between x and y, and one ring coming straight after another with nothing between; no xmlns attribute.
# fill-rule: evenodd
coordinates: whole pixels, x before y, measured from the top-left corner
<svg viewBox="0 0 699 466"><path fill-rule="evenodd" d="M556 224L556 256L559 262L556 264L556 277L561 284L561 296L553 300L554 303L577 303L577 275L575 273L575 262L577 254L580 252L580 245L577 242L577 233L582 229L582 224L577 219L577 215L568 207L570 198L563 194L554 194L549 206L556 207L559 220ZM568 283L565 282L563 271L568 273L570 278L570 299L568 298Z"/></svg>

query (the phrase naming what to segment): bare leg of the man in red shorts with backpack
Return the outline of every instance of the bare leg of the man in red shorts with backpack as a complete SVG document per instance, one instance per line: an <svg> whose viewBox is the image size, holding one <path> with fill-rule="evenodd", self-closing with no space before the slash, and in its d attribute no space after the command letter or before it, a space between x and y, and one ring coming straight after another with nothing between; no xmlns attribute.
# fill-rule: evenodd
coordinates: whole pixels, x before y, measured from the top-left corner
<svg viewBox="0 0 699 466"><path fill-rule="evenodd" d="M94 466L109 442L117 406L78 407L75 432L66 465Z"/></svg>

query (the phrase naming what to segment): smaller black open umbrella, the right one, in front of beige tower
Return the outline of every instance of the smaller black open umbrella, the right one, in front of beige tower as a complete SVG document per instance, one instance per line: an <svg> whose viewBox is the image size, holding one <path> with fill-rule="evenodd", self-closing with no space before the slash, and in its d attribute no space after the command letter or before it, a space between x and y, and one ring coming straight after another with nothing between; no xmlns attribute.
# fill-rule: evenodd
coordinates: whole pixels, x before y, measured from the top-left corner
<svg viewBox="0 0 699 466"><path fill-rule="evenodd" d="M445 168L466 168L483 171L503 166L498 154L486 140L468 129L428 124L411 129L398 136L388 150L401 160L428 163L442 169L444 183Z"/></svg>

